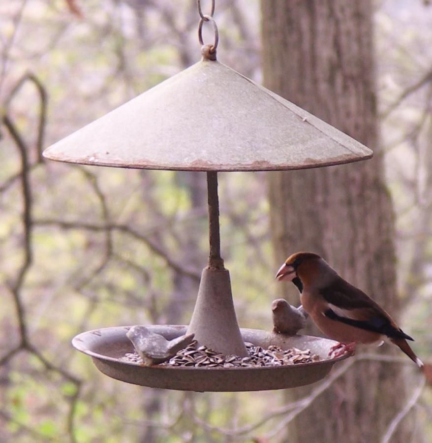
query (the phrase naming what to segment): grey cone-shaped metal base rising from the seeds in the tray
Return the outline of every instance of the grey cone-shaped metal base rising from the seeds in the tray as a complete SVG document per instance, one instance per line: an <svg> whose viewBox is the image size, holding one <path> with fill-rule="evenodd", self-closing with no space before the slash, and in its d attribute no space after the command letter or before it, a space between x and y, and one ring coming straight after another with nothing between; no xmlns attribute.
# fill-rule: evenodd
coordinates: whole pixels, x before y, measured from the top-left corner
<svg viewBox="0 0 432 443"><path fill-rule="evenodd" d="M246 356L231 294L227 269L205 268L201 275L198 297L187 334L195 340L225 355Z"/></svg>

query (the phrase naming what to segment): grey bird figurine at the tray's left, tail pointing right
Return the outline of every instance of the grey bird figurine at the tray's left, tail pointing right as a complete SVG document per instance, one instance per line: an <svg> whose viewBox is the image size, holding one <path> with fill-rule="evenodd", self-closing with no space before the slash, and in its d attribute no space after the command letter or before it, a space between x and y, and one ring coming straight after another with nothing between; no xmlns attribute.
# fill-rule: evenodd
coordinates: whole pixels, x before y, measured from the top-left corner
<svg viewBox="0 0 432 443"><path fill-rule="evenodd" d="M166 340L145 326L132 326L126 334L145 366L163 363L189 345L194 334L182 335L174 340Z"/></svg>

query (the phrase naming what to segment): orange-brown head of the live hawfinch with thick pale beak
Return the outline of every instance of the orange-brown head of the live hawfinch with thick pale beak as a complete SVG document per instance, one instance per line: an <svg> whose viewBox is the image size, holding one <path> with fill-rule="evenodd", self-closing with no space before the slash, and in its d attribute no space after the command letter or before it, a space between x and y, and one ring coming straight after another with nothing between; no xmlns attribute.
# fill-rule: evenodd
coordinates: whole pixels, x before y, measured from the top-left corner
<svg viewBox="0 0 432 443"><path fill-rule="evenodd" d="M285 263L279 268L276 278L279 282L282 280L293 281L302 291L303 286L320 285L324 281L327 283L329 277L333 278L335 275L337 275L336 271L318 254L298 252L285 260Z"/></svg>

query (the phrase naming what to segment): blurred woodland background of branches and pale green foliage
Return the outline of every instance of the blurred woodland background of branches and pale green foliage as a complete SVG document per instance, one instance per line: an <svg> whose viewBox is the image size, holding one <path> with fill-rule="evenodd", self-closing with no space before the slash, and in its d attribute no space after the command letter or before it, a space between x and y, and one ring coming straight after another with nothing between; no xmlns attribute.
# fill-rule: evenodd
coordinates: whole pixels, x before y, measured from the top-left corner
<svg viewBox="0 0 432 443"><path fill-rule="evenodd" d="M266 17L278 4L300 14L302 2L262 3L217 0L215 14L218 60L257 82L266 73L261 11ZM379 147L370 146L379 160L369 161L385 166L396 245L390 261L397 301L393 310L384 307L399 313L423 361L432 358L429 3L365 0L373 16L380 132ZM190 319L208 254L205 174L82 167L45 161L41 151L197 62L197 25L194 0L0 2L0 442L291 442L302 441L302 426L316 442L335 441L340 430L346 442L432 442L431 388L408 358L387 354L389 345L359 352L308 390L216 394L112 380L71 348L70 339L84 330ZM267 65L266 84L268 71ZM274 281L279 250L296 252L272 239L276 185L269 175L219 177L222 256L238 320L268 330L270 304L281 291ZM302 235L296 249L311 244ZM334 248L317 252L327 252L342 273ZM352 269L342 275L352 280ZM360 376L366 360L375 366L364 371L379 373L372 387ZM392 395L397 384L403 392ZM372 439L362 436L375 429L375 412L354 408L355 430L338 418L368 388L377 411L389 403L394 409L381 414ZM329 393L331 403L317 402ZM322 408L332 422L322 419Z"/></svg>

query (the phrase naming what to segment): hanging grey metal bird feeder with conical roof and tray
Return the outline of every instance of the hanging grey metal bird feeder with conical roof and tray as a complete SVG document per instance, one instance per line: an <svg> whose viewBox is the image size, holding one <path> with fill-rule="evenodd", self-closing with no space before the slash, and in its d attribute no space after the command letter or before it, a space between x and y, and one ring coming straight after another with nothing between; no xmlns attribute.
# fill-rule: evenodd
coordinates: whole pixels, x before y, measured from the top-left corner
<svg viewBox="0 0 432 443"><path fill-rule="evenodd" d="M55 143L45 158L70 163L207 173L210 256L188 326L147 326L166 339L194 333L200 345L247 355L262 347L310 348L322 360L278 367L192 368L124 362L128 327L79 334L73 345L118 380L158 388L241 391L300 386L323 378L345 356L328 359L332 340L240 329L220 256L218 171L306 169L372 157L369 148L216 60L217 27L198 1L202 60ZM214 3L213 3L214 4ZM201 29L210 22L214 44ZM197 172L199 173L199 172ZM269 302L271 300L269 299Z"/></svg>

